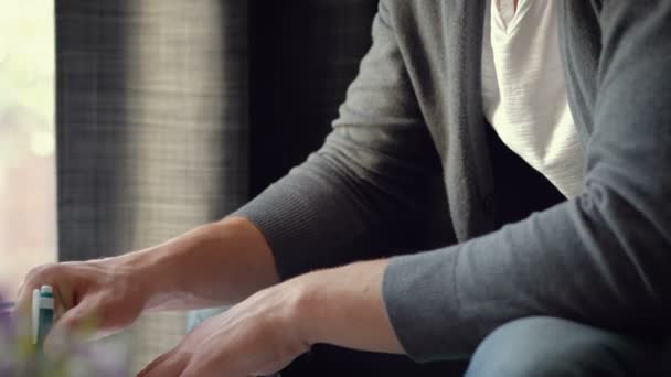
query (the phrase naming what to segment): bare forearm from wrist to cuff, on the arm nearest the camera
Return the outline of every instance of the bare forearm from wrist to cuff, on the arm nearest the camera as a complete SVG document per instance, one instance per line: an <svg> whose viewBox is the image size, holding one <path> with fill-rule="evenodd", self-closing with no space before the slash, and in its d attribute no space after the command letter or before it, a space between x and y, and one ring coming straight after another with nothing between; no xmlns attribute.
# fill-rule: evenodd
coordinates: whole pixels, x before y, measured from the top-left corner
<svg viewBox="0 0 671 377"><path fill-rule="evenodd" d="M306 343L403 354L382 300L387 260L356 262L295 279L302 290L296 322Z"/></svg>

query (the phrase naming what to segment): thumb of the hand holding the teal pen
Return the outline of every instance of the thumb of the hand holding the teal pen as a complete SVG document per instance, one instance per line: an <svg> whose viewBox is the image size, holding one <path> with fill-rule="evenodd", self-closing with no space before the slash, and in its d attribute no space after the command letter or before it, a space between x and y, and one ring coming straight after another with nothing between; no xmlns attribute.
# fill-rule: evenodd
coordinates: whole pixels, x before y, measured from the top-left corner
<svg viewBox="0 0 671 377"><path fill-rule="evenodd" d="M76 306L67 310L54 324L44 340L44 351L54 355L58 349L72 344L74 336L93 337L98 327L97 305L95 300L84 299Z"/></svg>

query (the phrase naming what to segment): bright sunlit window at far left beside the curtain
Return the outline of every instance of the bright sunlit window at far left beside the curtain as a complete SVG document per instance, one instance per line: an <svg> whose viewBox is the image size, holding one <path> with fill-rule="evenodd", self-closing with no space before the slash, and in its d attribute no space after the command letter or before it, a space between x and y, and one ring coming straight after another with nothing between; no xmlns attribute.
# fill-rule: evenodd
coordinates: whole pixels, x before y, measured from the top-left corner
<svg viewBox="0 0 671 377"><path fill-rule="evenodd" d="M56 259L54 1L0 0L0 291Z"/></svg>

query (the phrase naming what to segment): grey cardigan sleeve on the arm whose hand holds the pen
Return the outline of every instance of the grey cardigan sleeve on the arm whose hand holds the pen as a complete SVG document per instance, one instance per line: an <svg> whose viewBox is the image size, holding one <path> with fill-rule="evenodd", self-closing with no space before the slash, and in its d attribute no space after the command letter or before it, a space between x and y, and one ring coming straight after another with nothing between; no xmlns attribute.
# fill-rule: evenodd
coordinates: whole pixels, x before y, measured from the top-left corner
<svg viewBox="0 0 671 377"><path fill-rule="evenodd" d="M373 45L322 148L232 215L264 234L283 279L376 257L438 161L386 13L381 1Z"/></svg>

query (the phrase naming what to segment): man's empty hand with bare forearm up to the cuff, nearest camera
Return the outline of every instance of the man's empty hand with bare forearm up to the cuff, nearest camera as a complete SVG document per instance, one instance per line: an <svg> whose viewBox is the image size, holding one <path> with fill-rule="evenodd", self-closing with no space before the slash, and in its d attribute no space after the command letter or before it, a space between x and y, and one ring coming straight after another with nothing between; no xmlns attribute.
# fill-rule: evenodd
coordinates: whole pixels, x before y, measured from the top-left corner
<svg viewBox="0 0 671 377"><path fill-rule="evenodd" d="M270 375L312 344L403 353L382 302L386 260L316 271L203 322L138 376Z"/></svg>

